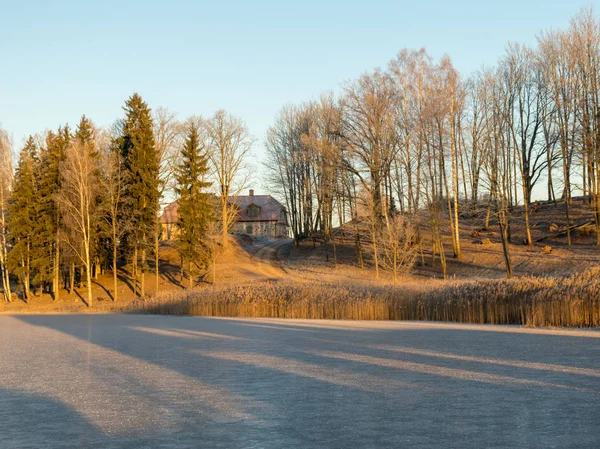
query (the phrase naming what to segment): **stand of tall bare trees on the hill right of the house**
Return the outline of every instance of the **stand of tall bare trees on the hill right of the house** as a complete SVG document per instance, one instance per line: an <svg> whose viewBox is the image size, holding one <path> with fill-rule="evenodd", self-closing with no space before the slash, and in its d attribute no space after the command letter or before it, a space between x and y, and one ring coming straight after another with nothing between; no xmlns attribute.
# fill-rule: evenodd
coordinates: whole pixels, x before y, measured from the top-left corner
<svg viewBox="0 0 600 449"><path fill-rule="evenodd" d="M285 106L267 133L267 168L296 240L320 233L335 254L334 222L367 223L377 273L387 266L395 277L398 257L428 230L446 276L442 226L460 258L459 221L483 209L485 227L492 217L499 225L511 277L511 214L520 206L532 245L534 189L561 202L569 245L576 192L600 231L599 84L591 9L533 47L508 44L495 67L468 77L447 56L402 50L338 94ZM362 252L357 226L359 264Z"/></svg>

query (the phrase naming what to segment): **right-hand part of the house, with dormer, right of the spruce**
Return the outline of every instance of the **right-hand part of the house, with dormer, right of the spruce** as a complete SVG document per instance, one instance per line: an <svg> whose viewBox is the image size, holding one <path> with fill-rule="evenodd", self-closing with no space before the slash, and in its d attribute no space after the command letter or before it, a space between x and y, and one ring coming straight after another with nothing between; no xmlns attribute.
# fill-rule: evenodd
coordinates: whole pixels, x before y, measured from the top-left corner
<svg viewBox="0 0 600 449"><path fill-rule="evenodd" d="M236 222L232 233L244 233L253 236L287 238L290 235L287 211L271 195L255 195L250 189L249 195L230 198L238 207Z"/></svg>

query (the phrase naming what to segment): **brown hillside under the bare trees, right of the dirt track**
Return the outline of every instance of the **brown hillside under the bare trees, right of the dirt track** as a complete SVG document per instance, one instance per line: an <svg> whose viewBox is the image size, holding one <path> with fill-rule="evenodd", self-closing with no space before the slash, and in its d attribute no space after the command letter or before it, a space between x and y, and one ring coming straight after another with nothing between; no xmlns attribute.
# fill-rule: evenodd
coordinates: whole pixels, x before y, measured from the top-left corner
<svg viewBox="0 0 600 449"><path fill-rule="evenodd" d="M447 217L441 224L443 243L448 263L448 277L456 279L497 279L505 277L502 243L497 221L490 218L489 227L484 228L486 210L480 209L470 217L460 219L460 244L462 257L457 260L452 255L450 225ZM567 245L564 234L564 203L540 204L536 212L531 212L532 238L534 244L528 247L523 244L525 226L522 210L511 214L512 243L511 259L515 276L569 276L584 271L600 262L600 248L596 246L594 224L581 227L572 232L572 244ZM423 219L424 221L425 219ZM571 209L571 226L593 221L590 207L583 204L581 198L573 200ZM355 225L346 224L336 229L336 252L338 264L348 268L356 266ZM372 258L370 257L370 237L366 229L361 229L363 258L367 265L364 271L370 273ZM432 240L427 224L421 225L423 260L419 255L411 277L421 279L440 278L441 268L436 258L432 264ZM294 248L287 260L302 270L302 265L313 267L331 267L333 245L304 241ZM329 259L329 263L327 260ZM359 270L360 271L360 270ZM384 273L384 278L389 277Z"/></svg>

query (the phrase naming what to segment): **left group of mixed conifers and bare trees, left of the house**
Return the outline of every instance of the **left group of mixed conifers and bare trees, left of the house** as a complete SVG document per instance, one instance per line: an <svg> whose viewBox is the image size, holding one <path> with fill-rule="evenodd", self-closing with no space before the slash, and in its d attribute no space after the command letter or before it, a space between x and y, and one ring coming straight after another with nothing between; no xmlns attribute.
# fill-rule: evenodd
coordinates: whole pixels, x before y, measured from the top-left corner
<svg viewBox="0 0 600 449"><path fill-rule="evenodd" d="M58 300L61 290L84 284L91 307L93 280L105 270L112 271L114 301L123 275L144 297L154 274L158 292L166 196L179 203L176 245L190 287L226 246L235 205L217 198L243 186L252 144L244 123L225 111L180 122L164 108L153 113L138 94L123 109L109 129L83 116L74 130L65 125L30 136L14 169L10 136L0 128L0 287L6 301L15 285L29 301L33 292Z"/></svg>

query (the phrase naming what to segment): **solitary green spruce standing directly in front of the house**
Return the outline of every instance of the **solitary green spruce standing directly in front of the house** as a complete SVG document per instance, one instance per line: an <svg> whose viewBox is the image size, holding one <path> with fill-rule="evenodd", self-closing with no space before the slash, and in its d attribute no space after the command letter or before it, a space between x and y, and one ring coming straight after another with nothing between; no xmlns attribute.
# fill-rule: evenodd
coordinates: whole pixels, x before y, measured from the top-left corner
<svg viewBox="0 0 600 449"><path fill-rule="evenodd" d="M201 145L198 126L190 122L181 148L181 163L176 170L177 226L180 229L177 246L181 259L187 263L190 288L194 285L193 265L206 262L206 251L202 249L211 219L211 206L205 193L211 185L205 181L207 174L208 156Z"/></svg>

